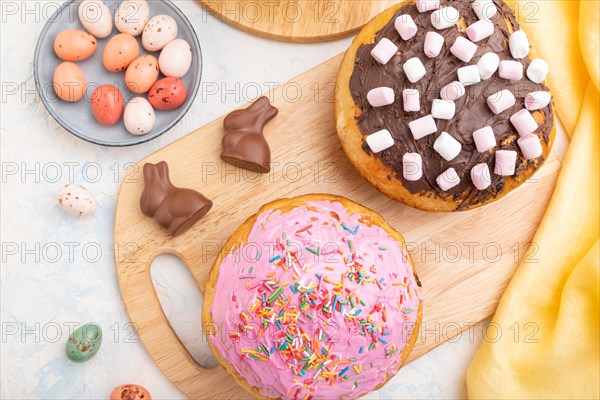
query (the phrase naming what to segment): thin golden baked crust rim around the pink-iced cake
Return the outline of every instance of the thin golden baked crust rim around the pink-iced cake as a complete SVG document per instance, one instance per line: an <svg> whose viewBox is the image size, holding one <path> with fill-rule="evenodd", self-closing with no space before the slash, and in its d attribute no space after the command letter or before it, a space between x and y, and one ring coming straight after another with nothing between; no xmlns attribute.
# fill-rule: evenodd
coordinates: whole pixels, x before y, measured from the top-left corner
<svg viewBox="0 0 600 400"><path fill-rule="evenodd" d="M390 237L392 237L405 250L407 250L406 243L404 241L404 237L402 237L402 235L400 235L392 226L390 226L387 222L385 222L385 220L383 219L383 217L381 215L379 215L378 213L376 213L373 210L370 210L367 207L364 207L364 206L357 204L351 200L348 200L345 197L335 196L335 195L330 195L330 194L307 194L307 195L294 197L294 198L290 198L290 199L279 199L279 200L275 200L273 202L267 203L267 204L263 205L256 214L254 214L253 216L248 218L242 225L240 225L238 227L238 229L236 229L236 231L231 235L229 240L227 240L227 243L225 243L225 246L223 247L223 249L221 249L221 251L217 255L215 263L212 266L209 279L206 282L206 285L204 287L204 302L203 302L203 306L202 306L202 321L203 321L203 326L205 328L204 333L207 336L207 338L211 335L212 327L214 326L212 313L210 312L210 307L215 299L215 295L216 295L215 286L216 286L217 279L219 276L219 267L221 266L222 260L224 260L225 257L227 256L227 254L229 254L231 251L235 250L239 246L246 243L246 239L248 238L248 235L250 234L252 228L254 227L254 223L256 222L256 219L259 215L263 214L264 212L270 211L270 210L280 210L281 212L285 213L285 212L290 211L291 209L294 209L296 207L304 205L306 202L312 202L312 201L330 201L330 202L341 203L348 210L349 214L364 215L365 220L368 220L368 221L370 221L371 224L384 229L390 235ZM408 254L408 257L407 257L408 262L413 268L413 273L415 274L415 276L417 276L412 258L410 256L410 253L408 253L408 250L407 250L407 254ZM421 325L422 317L423 317L423 302L420 301L419 308L417 310L417 320L415 322L415 327L414 327L413 332L411 333L410 338L406 341L406 346L404 347L404 349L402 350L402 352L400 354L401 362L399 363L398 369L400 369L400 367L402 365L404 365L404 363L406 362L406 360L408 358L408 355L410 354L412 348L414 347L414 345L417 341L417 337L419 335L419 327ZM212 345L210 340L208 340L208 343L209 343L210 349L211 349L212 353L214 354L215 358L225 368L225 370L231 376L233 376L233 378L240 384L240 386L242 386L246 391L251 393L256 398L270 399L269 397L263 396L261 394L259 388L251 386L246 381L246 379L244 379L242 376L240 376L240 374L236 371L236 369L233 367L233 365L231 365L221 354L219 354L218 350ZM380 387L385 385L385 383L387 383L387 381L389 381L395 375L396 372L397 371L394 371L394 374L388 375L386 381L383 382L381 385L379 385L376 389L379 389Z"/></svg>

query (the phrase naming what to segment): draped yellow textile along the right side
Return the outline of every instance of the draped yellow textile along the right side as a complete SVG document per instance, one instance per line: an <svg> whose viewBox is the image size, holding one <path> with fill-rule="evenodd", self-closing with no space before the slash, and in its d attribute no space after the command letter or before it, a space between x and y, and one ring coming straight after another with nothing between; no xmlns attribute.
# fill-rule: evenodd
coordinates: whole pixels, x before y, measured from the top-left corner
<svg viewBox="0 0 600 400"><path fill-rule="evenodd" d="M537 4L533 17L531 8L518 16L550 65L572 140L534 238L538 262L517 269L493 320L502 336L469 367L473 399L600 398L600 2Z"/></svg>

